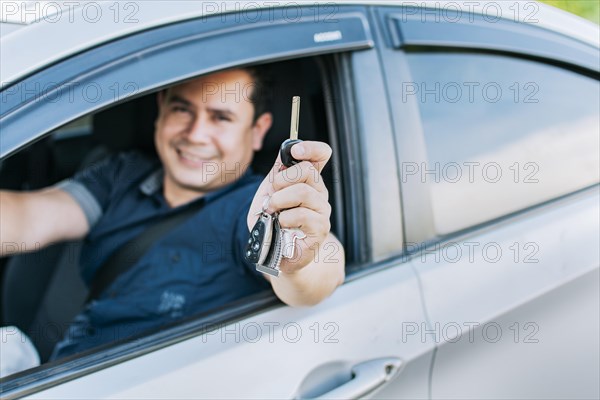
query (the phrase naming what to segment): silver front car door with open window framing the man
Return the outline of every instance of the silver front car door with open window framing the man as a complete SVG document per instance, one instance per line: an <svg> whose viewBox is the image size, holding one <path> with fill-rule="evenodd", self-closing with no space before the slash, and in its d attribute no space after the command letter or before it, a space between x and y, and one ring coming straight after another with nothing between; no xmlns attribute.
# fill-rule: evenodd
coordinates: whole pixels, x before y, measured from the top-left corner
<svg viewBox="0 0 600 400"><path fill-rule="evenodd" d="M185 6L144 4L162 7L167 16ZM349 260L344 285L315 307L258 296L133 342L46 364L3 381L3 398L428 397L434 343L405 332L407 323L425 326L426 318L417 275L402 254L379 38L365 7L335 6L319 18L308 7L270 11L251 20L233 13L146 27L12 82L2 92L2 156L82 115L198 74L330 55L327 107L343 179ZM99 90L92 99L72 82ZM36 87L51 89L30 89ZM123 89L119 96L114 87ZM315 256L333 260L339 251Z"/></svg>

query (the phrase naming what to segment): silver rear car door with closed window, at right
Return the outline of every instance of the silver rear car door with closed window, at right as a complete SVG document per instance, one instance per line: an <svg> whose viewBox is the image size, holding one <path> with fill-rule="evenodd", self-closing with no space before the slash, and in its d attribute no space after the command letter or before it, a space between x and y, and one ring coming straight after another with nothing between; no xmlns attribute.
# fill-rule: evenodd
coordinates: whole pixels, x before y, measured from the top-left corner
<svg viewBox="0 0 600 400"><path fill-rule="evenodd" d="M432 398L597 398L597 47L456 9L377 17Z"/></svg>

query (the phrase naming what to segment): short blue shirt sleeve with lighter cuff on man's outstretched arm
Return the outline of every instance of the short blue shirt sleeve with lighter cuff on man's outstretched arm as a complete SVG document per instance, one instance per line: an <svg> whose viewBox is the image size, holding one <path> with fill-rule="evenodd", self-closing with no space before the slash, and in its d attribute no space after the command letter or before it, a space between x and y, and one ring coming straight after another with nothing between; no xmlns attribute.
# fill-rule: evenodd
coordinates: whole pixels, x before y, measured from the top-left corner
<svg viewBox="0 0 600 400"><path fill-rule="evenodd" d="M55 185L67 192L82 208L92 228L106 210L120 171L127 164L126 154L115 154L79 171Z"/></svg>

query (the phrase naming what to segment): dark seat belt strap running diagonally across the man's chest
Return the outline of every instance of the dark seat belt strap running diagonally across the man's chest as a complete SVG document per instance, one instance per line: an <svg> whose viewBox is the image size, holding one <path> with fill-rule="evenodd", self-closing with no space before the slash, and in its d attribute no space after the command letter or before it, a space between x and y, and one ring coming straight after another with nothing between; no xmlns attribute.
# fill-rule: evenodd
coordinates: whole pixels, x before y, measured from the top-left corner
<svg viewBox="0 0 600 400"><path fill-rule="evenodd" d="M166 235L178 225L189 219L204 206L204 199L183 207L181 210L161 219L141 234L129 240L100 266L92 279L90 291L85 304L97 299L102 292L113 283L117 277L133 267L150 247L161 237Z"/></svg>

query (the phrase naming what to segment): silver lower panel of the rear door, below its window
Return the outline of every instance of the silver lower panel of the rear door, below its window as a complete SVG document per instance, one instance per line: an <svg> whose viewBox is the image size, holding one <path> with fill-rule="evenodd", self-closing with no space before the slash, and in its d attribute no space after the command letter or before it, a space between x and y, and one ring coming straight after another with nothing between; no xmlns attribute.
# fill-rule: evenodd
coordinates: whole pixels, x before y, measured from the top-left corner
<svg viewBox="0 0 600 400"><path fill-rule="evenodd" d="M599 193L414 259L440 343L433 398L598 398Z"/></svg>

